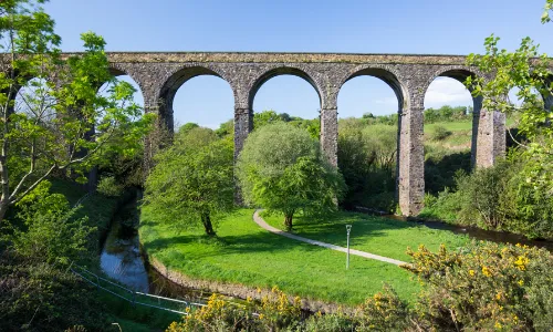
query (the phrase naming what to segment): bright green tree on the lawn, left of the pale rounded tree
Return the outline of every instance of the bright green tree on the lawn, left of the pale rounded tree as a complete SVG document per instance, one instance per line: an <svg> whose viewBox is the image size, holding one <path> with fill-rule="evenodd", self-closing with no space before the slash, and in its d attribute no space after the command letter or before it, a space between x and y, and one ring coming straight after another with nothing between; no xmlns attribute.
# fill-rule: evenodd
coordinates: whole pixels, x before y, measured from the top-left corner
<svg viewBox="0 0 553 332"><path fill-rule="evenodd" d="M144 206L157 220L189 227L201 224L215 236L213 220L233 208L233 148L208 128L192 128L156 156L146 180Z"/></svg>

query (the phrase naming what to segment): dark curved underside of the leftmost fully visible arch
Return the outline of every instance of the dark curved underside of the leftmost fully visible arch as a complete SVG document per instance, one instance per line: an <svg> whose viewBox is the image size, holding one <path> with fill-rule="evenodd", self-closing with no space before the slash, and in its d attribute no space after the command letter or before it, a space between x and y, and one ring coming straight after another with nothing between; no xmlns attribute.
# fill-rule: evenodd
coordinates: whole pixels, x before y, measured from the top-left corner
<svg viewBox="0 0 553 332"><path fill-rule="evenodd" d="M158 115L163 123L165 123L169 133L173 133L175 129L173 102L178 89L187 81L201 75L211 75L222 79L229 84L230 89L232 90L232 94L236 97L234 89L230 83L231 81L228 80L226 75L218 69L202 65L188 65L179 68L168 75L167 80L165 80L165 82L163 83L157 96L157 100L159 101Z"/></svg>

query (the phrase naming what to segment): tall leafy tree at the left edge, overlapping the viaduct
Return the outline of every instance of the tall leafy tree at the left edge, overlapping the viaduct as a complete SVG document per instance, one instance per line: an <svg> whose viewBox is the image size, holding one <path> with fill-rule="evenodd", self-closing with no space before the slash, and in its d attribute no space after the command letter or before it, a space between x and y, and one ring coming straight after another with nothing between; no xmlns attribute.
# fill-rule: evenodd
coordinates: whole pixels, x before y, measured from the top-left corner
<svg viewBox="0 0 553 332"><path fill-rule="evenodd" d="M133 86L109 74L102 37L83 33L84 53L62 56L43 2L0 2L0 222L54 172L82 175L109 153L133 155L153 122Z"/></svg>

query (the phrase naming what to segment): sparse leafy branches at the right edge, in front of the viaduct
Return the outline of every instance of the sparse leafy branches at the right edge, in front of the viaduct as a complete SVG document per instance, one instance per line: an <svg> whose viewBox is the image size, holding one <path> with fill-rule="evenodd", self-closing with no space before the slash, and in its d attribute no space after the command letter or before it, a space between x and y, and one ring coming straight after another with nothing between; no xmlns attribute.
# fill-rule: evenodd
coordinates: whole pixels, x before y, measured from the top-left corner
<svg viewBox="0 0 553 332"><path fill-rule="evenodd" d="M543 22L550 21L552 8L549 0ZM500 50L499 38L493 34L486 39L486 54L470 54L468 63L478 66L489 77L469 77L467 86L476 96L483 96L483 108L507 114L519 113L519 132L528 141L518 142L524 158L523 173L531 189L553 194L553 120L552 110L545 110L540 95L553 95L551 60L540 54L538 45L524 38L514 52ZM517 106L509 100L509 92L517 89L517 97L522 101ZM538 92L538 94L535 93ZM514 139L514 138L513 138ZM517 141L517 139L514 139Z"/></svg>

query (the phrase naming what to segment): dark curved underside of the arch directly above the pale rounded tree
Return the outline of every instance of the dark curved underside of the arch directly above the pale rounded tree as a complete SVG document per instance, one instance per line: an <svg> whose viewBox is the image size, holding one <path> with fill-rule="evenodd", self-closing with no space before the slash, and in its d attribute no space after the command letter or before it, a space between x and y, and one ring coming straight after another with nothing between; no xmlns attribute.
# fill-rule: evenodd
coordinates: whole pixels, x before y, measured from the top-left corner
<svg viewBox="0 0 553 332"><path fill-rule="evenodd" d="M313 73L309 73L309 70L305 69L300 69L295 66L290 66L290 65L282 65L282 66L276 66L270 70L267 70L262 72L257 80L253 82L249 90L248 94L248 106L250 110L253 110L253 100L255 98L255 94L258 93L259 89L269 80L280 76L280 75L293 75L298 76L300 79L305 80L307 83L313 86L315 90L316 94L319 95L319 101L320 105L323 105L324 102L324 95L322 93L321 84L319 84L315 81L315 75Z"/></svg>

